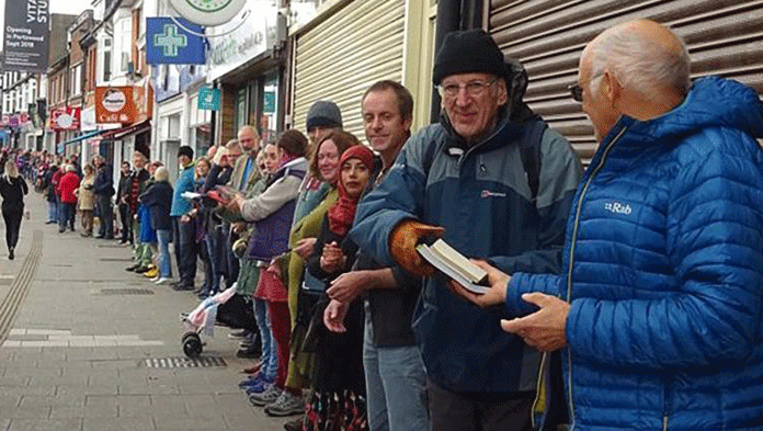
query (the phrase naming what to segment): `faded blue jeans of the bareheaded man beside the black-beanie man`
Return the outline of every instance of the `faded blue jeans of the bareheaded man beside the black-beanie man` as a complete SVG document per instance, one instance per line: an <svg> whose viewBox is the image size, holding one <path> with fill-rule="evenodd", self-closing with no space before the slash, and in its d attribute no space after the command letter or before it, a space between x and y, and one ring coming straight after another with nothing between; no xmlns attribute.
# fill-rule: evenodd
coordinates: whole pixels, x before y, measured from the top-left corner
<svg viewBox="0 0 763 431"><path fill-rule="evenodd" d="M426 373L418 345L374 347L366 305L363 366L371 431L426 431Z"/></svg>

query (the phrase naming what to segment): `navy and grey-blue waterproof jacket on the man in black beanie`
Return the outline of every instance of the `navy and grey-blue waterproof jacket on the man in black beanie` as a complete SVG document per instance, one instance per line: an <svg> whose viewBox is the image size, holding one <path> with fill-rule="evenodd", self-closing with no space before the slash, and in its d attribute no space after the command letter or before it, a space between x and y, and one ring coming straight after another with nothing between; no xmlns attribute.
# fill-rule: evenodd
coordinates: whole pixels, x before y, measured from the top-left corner
<svg viewBox="0 0 763 431"><path fill-rule="evenodd" d="M533 200L519 148L529 125L504 115L491 136L466 151L445 118L419 131L358 205L350 238L389 266L390 231L417 218L445 227L444 239L467 257L489 258L510 273L559 271L581 168L567 140L546 128ZM501 330L500 309L467 304L435 279L421 295L413 330L430 378L459 393L535 390L540 355Z"/></svg>

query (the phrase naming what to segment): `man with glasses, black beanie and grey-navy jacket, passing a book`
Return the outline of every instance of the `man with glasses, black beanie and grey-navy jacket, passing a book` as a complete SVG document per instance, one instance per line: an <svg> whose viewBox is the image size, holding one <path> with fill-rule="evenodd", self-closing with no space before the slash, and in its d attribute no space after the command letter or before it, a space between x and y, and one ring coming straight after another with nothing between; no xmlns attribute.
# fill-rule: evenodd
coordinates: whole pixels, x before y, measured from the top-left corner
<svg viewBox="0 0 763 431"><path fill-rule="evenodd" d="M357 208L352 239L380 264L429 276L413 317L432 429L529 430L540 355L501 314L455 296L417 254L442 235L502 270L558 272L581 174L570 145L522 102L526 75L486 32L446 35L434 83L441 122L412 136Z"/></svg>

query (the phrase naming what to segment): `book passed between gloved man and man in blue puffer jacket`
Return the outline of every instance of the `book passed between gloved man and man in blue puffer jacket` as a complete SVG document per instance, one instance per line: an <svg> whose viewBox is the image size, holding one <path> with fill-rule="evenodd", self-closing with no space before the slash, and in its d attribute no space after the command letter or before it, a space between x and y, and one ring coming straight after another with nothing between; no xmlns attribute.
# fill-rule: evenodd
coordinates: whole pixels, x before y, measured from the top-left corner
<svg viewBox="0 0 763 431"><path fill-rule="evenodd" d="M415 251L432 266L467 290L483 294L490 288L488 273L442 239L437 239L431 246L421 243L415 247Z"/></svg>

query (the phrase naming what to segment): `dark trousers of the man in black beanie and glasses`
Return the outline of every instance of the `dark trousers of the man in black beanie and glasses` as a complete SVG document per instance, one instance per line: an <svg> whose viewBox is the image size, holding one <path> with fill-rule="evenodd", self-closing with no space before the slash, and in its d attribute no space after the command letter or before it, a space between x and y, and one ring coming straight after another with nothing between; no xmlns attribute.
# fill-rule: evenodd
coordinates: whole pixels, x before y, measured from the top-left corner
<svg viewBox="0 0 763 431"><path fill-rule="evenodd" d="M464 395L426 379L432 431L531 431L535 393Z"/></svg>

